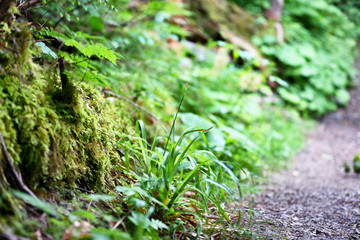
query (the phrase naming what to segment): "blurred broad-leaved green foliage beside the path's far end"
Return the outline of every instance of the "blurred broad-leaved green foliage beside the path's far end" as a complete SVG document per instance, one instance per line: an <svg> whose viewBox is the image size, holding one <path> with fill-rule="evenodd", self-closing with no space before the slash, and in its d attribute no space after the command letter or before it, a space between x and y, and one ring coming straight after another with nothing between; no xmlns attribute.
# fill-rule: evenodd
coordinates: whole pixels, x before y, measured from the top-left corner
<svg viewBox="0 0 360 240"><path fill-rule="evenodd" d="M269 1L238 3L246 9L256 6L259 13L266 10L265 2ZM356 12L349 4L338 2ZM354 19L325 0L290 0L285 2L281 18L285 42L278 44L271 31L253 37L261 52L275 61L276 75L289 83L287 88L277 88L282 99L315 116L347 104L350 96L346 88L355 77L357 54L359 28L351 21Z"/></svg>

